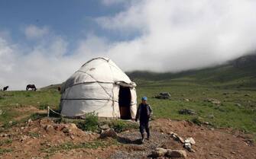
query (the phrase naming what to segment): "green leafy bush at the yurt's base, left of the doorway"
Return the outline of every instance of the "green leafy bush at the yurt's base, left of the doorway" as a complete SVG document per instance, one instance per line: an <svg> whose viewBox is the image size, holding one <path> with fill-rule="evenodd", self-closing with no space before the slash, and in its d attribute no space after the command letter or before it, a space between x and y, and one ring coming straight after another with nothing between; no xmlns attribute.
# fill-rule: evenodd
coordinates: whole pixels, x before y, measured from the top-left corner
<svg viewBox="0 0 256 159"><path fill-rule="evenodd" d="M86 119L84 119L82 122L77 123L77 127L79 129L82 129L83 131L92 131L96 132L98 130L98 114L97 113L87 113Z"/></svg>

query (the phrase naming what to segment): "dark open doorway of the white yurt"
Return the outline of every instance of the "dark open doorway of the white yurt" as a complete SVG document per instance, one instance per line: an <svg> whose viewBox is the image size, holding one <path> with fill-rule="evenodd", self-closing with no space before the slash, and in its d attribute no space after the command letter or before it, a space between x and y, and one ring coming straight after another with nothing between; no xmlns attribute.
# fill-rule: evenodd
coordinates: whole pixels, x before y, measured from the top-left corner
<svg viewBox="0 0 256 159"><path fill-rule="evenodd" d="M119 88L119 110L121 119L131 119L131 91L130 87Z"/></svg>

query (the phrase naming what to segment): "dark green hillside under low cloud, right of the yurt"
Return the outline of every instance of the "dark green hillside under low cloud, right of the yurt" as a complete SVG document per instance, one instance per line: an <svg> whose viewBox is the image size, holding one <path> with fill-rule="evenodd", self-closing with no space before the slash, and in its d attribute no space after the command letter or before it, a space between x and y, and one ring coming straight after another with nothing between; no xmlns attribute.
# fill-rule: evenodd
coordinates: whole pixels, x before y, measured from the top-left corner
<svg viewBox="0 0 256 159"><path fill-rule="evenodd" d="M185 80L216 87L233 87L254 90L256 87L256 54L243 56L225 65L178 73L127 72L138 83L144 81ZM143 81L143 82L142 82Z"/></svg>

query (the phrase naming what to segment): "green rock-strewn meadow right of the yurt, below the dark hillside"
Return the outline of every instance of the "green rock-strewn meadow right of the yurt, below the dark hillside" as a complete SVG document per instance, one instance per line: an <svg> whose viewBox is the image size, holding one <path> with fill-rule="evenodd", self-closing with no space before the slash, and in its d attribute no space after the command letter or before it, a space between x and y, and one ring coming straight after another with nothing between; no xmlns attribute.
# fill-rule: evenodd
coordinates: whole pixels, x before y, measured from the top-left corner
<svg viewBox="0 0 256 159"><path fill-rule="evenodd" d="M210 122L216 127L232 127L245 132L256 132L256 92L242 88L216 87L217 84L200 84L193 78L179 78L170 81L154 81L151 84L138 86L140 97L149 97L148 103L154 110L154 116L171 119L194 119ZM171 100L153 98L160 92L171 92ZM245 94L250 94L246 97ZM220 100L216 105L205 101L207 98ZM190 99L186 101L184 99ZM238 105L241 105L238 107ZM180 115L181 109L195 110L197 115ZM209 115L215 116L209 118Z"/></svg>

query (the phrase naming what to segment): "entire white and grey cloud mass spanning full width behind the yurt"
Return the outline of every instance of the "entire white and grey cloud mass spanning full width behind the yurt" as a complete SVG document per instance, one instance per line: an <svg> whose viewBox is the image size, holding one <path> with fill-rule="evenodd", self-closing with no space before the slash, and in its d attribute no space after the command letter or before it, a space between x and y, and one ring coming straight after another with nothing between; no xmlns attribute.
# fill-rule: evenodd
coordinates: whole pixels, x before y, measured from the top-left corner
<svg viewBox="0 0 256 159"><path fill-rule="evenodd" d="M96 56L111 58L125 71L177 72L222 63L255 49L254 8L250 0L132 1L96 21L106 31L137 37L113 42L89 34L71 50L70 41L48 27L26 27L26 37L37 40L32 46L0 32L0 87L60 83Z"/></svg>

